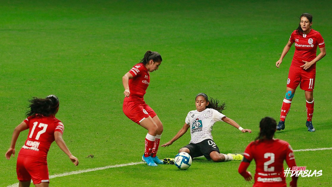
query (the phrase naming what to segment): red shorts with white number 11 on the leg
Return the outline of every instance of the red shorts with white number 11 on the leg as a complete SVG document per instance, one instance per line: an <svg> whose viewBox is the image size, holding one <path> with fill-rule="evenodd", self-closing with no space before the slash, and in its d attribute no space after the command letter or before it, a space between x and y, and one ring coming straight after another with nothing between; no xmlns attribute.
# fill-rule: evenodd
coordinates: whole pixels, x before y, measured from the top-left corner
<svg viewBox="0 0 332 187"><path fill-rule="evenodd" d="M316 69L304 70L290 66L288 73L287 87L296 89L300 85L301 90L312 92L315 87Z"/></svg>

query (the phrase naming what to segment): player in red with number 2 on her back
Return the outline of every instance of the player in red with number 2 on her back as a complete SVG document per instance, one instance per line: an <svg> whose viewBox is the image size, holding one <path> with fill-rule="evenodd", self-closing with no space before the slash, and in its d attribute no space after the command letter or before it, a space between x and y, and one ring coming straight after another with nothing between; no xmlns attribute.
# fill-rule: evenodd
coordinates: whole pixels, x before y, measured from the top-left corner
<svg viewBox="0 0 332 187"><path fill-rule="evenodd" d="M274 139L277 122L265 117L259 124L260 132L255 141L250 142L244 151L244 158L239 166L239 173L246 181L251 181L251 173L247 171L250 162L256 163L255 183L253 186L286 187L284 160L288 167L296 166L294 153L287 141ZM292 176L290 186L296 186L297 177Z"/></svg>

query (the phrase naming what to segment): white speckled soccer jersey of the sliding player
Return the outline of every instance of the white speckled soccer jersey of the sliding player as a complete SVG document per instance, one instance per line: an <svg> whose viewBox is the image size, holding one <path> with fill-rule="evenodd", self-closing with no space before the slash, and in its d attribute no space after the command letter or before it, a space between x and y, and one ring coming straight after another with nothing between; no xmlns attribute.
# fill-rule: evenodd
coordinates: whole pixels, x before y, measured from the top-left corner
<svg viewBox="0 0 332 187"><path fill-rule="evenodd" d="M205 139L212 139L212 126L225 117L215 109L207 108L201 112L192 110L188 112L186 123L190 125L191 143L199 143Z"/></svg>

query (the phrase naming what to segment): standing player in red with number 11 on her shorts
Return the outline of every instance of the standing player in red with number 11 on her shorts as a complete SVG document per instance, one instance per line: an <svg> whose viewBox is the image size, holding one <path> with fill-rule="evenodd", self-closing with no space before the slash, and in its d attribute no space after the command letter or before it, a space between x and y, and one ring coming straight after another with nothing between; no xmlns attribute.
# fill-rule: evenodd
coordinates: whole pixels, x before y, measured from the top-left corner
<svg viewBox="0 0 332 187"><path fill-rule="evenodd" d="M314 106L313 89L316 79L316 62L326 55L326 50L323 37L319 32L311 29L311 25L312 15L302 14L298 28L290 35L280 59L276 62L276 66L279 68L290 47L295 43L294 57L287 79L286 96L281 107L277 130L285 129L285 119L290 110L292 98L297 86L300 85L300 89L304 90L306 100L307 121L305 125L308 127L308 131L315 131L311 120ZM316 56L317 46L320 53Z"/></svg>

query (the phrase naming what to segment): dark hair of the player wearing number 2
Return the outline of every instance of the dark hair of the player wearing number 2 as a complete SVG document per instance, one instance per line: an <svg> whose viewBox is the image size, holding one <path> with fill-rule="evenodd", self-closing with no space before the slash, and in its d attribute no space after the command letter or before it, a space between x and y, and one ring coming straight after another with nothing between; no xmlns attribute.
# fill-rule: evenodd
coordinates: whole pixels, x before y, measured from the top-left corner
<svg viewBox="0 0 332 187"><path fill-rule="evenodd" d="M259 127L261 128L261 131L258 133L255 140L270 140L276 132L277 122L272 117L264 117L259 123Z"/></svg>

